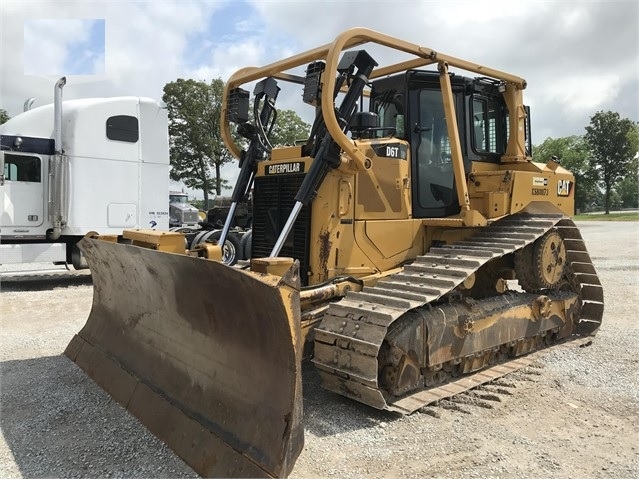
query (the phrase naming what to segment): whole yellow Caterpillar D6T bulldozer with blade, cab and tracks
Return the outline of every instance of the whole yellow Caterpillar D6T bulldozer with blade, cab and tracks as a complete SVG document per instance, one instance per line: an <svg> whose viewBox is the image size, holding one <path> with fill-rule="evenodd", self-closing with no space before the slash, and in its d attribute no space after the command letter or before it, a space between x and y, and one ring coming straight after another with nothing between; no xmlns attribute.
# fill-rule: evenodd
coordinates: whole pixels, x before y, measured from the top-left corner
<svg viewBox="0 0 639 479"><path fill-rule="evenodd" d="M274 148L284 86L315 120ZM574 176L533 161L525 88L365 28L239 70L222 135L231 210L252 194L250 262L218 261L228 221L193 250L170 232L87 237L93 306L65 354L199 474L285 477L304 360L329 390L409 414L594 335Z"/></svg>

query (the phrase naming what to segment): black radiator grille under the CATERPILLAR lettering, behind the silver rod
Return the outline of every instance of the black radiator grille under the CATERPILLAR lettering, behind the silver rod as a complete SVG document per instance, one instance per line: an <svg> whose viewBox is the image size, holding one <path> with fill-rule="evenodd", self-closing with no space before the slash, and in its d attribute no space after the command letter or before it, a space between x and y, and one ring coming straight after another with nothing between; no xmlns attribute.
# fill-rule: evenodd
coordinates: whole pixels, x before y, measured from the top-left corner
<svg viewBox="0 0 639 479"><path fill-rule="evenodd" d="M303 174L268 175L255 178L253 190L253 239L251 256L262 258L271 254L277 238L286 224L299 190ZM308 249L310 209L304 206L293 225L279 256L299 260L302 285L308 281Z"/></svg>

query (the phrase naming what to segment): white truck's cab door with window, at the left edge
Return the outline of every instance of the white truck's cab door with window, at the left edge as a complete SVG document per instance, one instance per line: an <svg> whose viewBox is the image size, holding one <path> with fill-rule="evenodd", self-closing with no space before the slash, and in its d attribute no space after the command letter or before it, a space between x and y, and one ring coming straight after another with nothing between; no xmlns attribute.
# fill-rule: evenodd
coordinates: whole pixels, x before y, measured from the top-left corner
<svg viewBox="0 0 639 479"><path fill-rule="evenodd" d="M44 161L39 155L2 152L0 228L28 228L44 221Z"/></svg>

